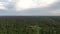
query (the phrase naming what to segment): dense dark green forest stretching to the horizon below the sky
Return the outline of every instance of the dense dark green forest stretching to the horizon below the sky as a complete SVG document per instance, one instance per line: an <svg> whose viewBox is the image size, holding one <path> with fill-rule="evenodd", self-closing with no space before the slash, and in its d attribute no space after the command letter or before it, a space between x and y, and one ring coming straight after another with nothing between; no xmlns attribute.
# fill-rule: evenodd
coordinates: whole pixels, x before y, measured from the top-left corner
<svg viewBox="0 0 60 34"><path fill-rule="evenodd" d="M0 34L60 34L60 17L0 16Z"/></svg>

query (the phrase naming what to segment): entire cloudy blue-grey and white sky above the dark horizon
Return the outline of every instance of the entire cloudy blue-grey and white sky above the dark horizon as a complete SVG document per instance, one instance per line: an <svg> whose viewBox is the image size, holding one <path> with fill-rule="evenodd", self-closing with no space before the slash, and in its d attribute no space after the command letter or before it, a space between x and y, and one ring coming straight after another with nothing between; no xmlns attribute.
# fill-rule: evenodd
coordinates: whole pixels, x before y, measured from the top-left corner
<svg viewBox="0 0 60 34"><path fill-rule="evenodd" d="M0 16L60 16L60 0L0 0Z"/></svg>

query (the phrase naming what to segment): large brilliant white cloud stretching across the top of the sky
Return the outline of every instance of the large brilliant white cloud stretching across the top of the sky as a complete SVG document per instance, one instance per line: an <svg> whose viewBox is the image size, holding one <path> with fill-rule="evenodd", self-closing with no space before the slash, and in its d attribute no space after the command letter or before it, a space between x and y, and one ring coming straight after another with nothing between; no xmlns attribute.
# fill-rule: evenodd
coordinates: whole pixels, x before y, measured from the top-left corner
<svg viewBox="0 0 60 34"><path fill-rule="evenodd" d="M18 0L16 3L16 10L23 10L29 8L47 7L57 0Z"/></svg>

